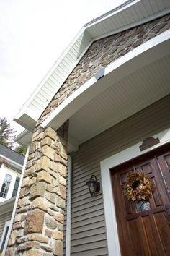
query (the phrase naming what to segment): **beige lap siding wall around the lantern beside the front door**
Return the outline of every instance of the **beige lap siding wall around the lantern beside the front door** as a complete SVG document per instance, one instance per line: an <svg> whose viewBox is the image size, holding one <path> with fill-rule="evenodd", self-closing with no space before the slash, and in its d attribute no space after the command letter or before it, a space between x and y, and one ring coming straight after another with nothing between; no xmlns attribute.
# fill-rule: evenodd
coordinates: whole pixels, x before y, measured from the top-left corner
<svg viewBox="0 0 170 256"><path fill-rule="evenodd" d="M100 161L170 125L170 96L85 142L73 153L71 256L107 254L102 194L90 197L91 174L100 180Z"/></svg>

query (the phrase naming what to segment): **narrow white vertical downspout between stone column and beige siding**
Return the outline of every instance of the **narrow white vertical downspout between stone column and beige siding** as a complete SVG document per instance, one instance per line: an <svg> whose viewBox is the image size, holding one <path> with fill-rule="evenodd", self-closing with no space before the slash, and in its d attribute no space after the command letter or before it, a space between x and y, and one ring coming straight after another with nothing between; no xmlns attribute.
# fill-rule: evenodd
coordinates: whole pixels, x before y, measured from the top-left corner
<svg viewBox="0 0 170 256"><path fill-rule="evenodd" d="M71 183L72 159L68 155L68 187L67 187L67 217L66 217L66 256L71 255Z"/></svg>

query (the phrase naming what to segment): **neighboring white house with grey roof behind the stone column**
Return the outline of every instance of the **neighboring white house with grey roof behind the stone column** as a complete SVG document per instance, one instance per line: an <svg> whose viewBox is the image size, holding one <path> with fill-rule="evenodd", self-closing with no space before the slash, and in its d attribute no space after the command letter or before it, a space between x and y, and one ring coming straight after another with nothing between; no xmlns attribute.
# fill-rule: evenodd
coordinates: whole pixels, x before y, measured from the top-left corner
<svg viewBox="0 0 170 256"><path fill-rule="evenodd" d="M0 251L6 246L24 155L0 144Z"/></svg>

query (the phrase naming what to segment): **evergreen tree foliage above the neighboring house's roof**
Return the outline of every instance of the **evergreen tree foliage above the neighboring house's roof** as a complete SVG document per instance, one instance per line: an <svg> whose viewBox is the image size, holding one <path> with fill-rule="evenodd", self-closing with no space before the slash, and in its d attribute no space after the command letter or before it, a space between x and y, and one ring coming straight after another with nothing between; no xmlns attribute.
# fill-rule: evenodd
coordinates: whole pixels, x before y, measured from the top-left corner
<svg viewBox="0 0 170 256"><path fill-rule="evenodd" d="M0 143L12 148L12 140L14 139L14 128L8 123L7 119L0 117Z"/></svg>

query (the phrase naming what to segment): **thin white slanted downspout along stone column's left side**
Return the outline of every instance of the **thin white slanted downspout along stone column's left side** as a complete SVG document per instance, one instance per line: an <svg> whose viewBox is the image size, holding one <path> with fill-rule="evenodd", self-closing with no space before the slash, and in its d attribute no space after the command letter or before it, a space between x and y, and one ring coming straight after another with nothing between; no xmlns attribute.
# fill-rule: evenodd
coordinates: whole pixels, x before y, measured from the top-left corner
<svg viewBox="0 0 170 256"><path fill-rule="evenodd" d="M12 211L12 218L11 218L11 223L9 225L9 231L8 231L7 236L6 236L6 242L4 244L4 252L6 252L6 247L7 247L7 244L9 242L9 236L10 236L11 231L12 231L12 223L14 221L15 211L16 211L16 208L17 208L17 202L18 202L18 199L19 199L19 192L20 192L20 189L21 189L21 186L22 186L22 179L23 179L23 176L24 176L24 170L25 170L26 163L27 163L29 149L30 149L30 145L27 148L27 153L25 154L25 158L24 158L24 164L22 166L22 174L21 174L21 177L20 177L19 186L18 186L18 190L17 190L17 195L16 195L16 199L15 199L15 202L14 202L14 208L13 208L13 211Z"/></svg>

